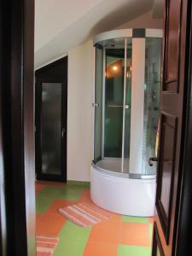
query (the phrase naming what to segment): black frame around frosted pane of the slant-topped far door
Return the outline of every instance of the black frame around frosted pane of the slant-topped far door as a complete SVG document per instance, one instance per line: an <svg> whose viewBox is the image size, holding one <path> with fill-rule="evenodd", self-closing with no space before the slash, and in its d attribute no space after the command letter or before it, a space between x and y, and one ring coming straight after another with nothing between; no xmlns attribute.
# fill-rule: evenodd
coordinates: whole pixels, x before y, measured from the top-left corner
<svg viewBox="0 0 192 256"><path fill-rule="evenodd" d="M52 180L67 182L67 56L54 61L45 67L36 70L36 100L35 100L35 125L36 125L36 175L38 180ZM52 75L46 76L49 69L55 68ZM62 74L60 74L62 73ZM61 128L65 128L61 137L61 175L42 173L41 153L41 109L42 109L42 83L61 83ZM65 157L63 157L65 156Z"/></svg>

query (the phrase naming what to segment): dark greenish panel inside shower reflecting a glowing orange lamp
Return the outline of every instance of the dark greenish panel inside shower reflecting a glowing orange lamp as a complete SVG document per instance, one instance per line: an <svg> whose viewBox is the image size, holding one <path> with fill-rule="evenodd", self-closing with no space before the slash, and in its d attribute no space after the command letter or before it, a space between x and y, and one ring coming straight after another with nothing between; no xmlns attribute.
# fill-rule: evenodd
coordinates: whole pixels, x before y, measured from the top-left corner
<svg viewBox="0 0 192 256"><path fill-rule="evenodd" d="M125 49L106 49L104 156L121 158Z"/></svg>

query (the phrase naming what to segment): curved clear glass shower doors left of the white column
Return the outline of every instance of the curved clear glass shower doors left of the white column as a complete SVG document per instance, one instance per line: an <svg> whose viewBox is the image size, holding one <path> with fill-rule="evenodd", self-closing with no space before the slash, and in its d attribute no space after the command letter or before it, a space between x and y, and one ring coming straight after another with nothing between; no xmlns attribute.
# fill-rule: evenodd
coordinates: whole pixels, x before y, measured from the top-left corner
<svg viewBox="0 0 192 256"><path fill-rule="evenodd" d="M95 102L95 161L110 171L128 173L131 38L114 38L96 47Z"/></svg>

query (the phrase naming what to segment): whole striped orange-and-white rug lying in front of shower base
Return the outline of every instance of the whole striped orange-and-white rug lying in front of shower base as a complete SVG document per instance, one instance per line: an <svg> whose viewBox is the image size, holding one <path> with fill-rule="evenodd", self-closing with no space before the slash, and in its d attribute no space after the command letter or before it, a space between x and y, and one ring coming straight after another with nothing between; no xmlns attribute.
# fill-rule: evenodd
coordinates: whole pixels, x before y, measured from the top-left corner
<svg viewBox="0 0 192 256"><path fill-rule="evenodd" d="M108 220L111 213L91 203L79 203L59 209L61 215L82 227Z"/></svg>

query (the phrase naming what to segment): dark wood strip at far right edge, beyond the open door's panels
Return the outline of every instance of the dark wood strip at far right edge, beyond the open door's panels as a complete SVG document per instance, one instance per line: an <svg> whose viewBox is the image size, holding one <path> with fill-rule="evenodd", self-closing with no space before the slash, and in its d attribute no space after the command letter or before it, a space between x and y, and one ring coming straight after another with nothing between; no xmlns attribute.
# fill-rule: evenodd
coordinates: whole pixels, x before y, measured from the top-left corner
<svg viewBox="0 0 192 256"><path fill-rule="evenodd" d="M192 255L192 3L188 1L185 102L183 108L183 175L178 202L176 256Z"/></svg>

